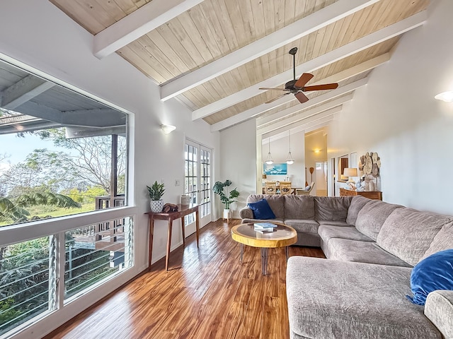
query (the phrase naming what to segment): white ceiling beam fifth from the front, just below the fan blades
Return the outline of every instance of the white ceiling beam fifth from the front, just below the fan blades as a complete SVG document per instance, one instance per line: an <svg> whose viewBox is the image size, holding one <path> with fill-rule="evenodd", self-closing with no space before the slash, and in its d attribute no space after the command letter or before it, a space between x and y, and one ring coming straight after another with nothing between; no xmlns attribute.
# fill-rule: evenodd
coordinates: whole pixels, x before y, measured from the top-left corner
<svg viewBox="0 0 453 339"><path fill-rule="evenodd" d="M296 108L289 107L288 109L283 109L280 112L270 114L267 117L262 117L262 118L258 117L256 119L256 127L259 129L259 128L265 126L266 124L269 124L277 119L282 119L289 114L295 113L302 109L309 109L310 107L313 107L315 105L322 104L323 102L326 102L328 100L332 100L332 99L335 99L336 97L340 97L341 95L345 95L346 93L350 93L353 90L356 90L357 88L365 86L367 84L367 82L368 82L368 78L363 78L363 79L354 81L353 83L348 83L348 85L341 86L341 87L337 88L336 90L331 90L331 92L325 93L323 95L319 95L318 97L314 97L313 99L304 103L304 105L294 106ZM299 109L297 109L297 108L299 108ZM291 112L291 109L296 109L296 110L294 110L294 112Z"/></svg>

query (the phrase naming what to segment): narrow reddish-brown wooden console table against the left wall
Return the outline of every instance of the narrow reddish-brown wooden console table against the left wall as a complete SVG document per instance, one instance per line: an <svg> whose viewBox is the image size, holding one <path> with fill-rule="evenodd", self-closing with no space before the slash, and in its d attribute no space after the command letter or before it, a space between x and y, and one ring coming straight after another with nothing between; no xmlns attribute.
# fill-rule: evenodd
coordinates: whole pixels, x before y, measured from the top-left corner
<svg viewBox="0 0 453 339"><path fill-rule="evenodd" d="M167 234L167 252L165 256L165 270L168 270L168 258L170 257L170 246L171 246L171 229L173 227L173 220L181 219L181 226L183 227L183 246L185 246L185 225L184 217L190 213L195 213L195 233L197 234L197 247L200 237L200 225L199 225L199 215L198 215L198 206L195 204L190 205L178 205L177 212L169 213L152 213L147 212L145 214L149 217L149 256L148 256L148 271L151 270L151 254L153 251L153 238L154 238L154 220L168 220L168 234Z"/></svg>

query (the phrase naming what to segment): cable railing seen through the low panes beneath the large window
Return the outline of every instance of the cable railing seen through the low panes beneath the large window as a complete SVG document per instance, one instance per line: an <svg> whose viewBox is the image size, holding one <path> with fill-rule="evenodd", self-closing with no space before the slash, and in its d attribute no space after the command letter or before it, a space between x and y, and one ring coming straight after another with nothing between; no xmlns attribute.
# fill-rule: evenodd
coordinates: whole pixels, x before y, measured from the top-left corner
<svg viewBox="0 0 453 339"><path fill-rule="evenodd" d="M132 267L134 220L116 213L113 219L96 218L91 225L0 247L0 338Z"/></svg>

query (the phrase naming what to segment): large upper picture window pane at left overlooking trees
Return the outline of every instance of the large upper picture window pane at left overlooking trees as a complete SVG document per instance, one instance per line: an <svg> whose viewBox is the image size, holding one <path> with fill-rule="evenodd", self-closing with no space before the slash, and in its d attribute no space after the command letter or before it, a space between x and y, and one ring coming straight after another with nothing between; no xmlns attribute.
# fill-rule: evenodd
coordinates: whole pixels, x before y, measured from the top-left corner
<svg viewBox="0 0 453 339"><path fill-rule="evenodd" d="M6 63L0 97L0 227L125 205L127 114Z"/></svg>

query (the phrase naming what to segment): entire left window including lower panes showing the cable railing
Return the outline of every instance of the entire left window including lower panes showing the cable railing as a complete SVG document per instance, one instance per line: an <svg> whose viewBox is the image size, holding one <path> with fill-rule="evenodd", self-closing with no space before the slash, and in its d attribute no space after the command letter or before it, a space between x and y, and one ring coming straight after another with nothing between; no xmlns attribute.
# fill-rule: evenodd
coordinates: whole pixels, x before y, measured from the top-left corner
<svg viewBox="0 0 453 339"><path fill-rule="evenodd" d="M122 208L127 114L3 61L0 97L6 338L131 268L134 217Z"/></svg>

